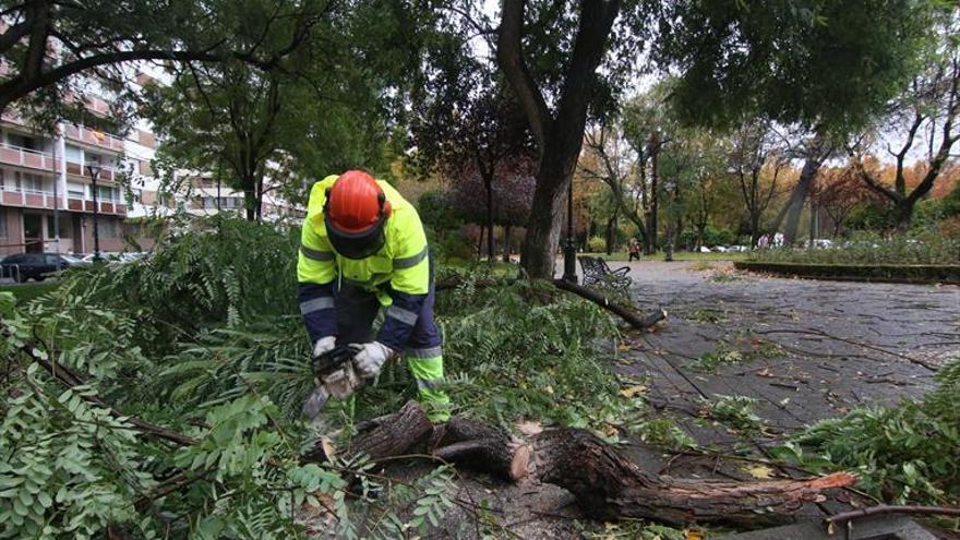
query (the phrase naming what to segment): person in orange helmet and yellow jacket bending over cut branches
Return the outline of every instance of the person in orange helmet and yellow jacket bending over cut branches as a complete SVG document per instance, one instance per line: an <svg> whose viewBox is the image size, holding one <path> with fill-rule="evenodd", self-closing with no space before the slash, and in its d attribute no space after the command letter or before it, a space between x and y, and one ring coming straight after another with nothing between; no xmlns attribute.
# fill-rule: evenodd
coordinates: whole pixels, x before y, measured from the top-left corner
<svg viewBox="0 0 960 540"><path fill-rule="evenodd" d="M314 358L358 344L357 373L375 377L404 353L434 422L449 417L433 321L433 261L417 209L362 170L313 184L297 262L298 302ZM385 307L383 325L373 321Z"/></svg>

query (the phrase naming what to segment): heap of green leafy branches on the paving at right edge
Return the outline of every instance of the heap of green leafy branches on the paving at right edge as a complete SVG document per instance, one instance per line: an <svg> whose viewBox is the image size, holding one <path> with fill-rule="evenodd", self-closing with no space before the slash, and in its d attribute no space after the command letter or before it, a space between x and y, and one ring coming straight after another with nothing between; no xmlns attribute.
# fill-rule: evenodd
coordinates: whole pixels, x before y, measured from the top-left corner
<svg viewBox="0 0 960 540"><path fill-rule="evenodd" d="M960 502L960 358L923 399L859 408L819 421L777 448L779 457L824 471L854 470L860 485L891 504Z"/></svg>

